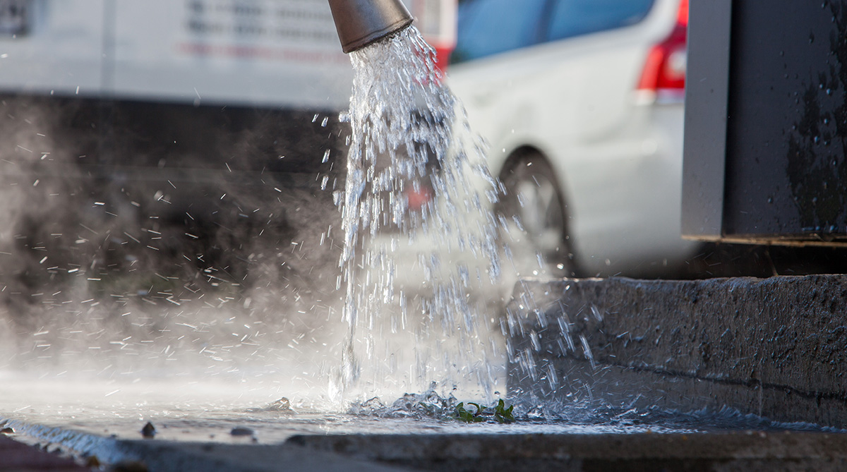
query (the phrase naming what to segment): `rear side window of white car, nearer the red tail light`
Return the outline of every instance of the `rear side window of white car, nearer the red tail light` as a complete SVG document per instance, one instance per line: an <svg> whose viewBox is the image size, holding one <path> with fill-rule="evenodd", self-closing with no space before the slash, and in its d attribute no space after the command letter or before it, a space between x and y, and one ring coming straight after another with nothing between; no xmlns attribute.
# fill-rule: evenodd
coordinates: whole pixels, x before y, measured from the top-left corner
<svg viewBox="0 0 847 472"><path fill-rule="evenodd" d="M554 0L547 41L634 25L654 0Z"/></svg>

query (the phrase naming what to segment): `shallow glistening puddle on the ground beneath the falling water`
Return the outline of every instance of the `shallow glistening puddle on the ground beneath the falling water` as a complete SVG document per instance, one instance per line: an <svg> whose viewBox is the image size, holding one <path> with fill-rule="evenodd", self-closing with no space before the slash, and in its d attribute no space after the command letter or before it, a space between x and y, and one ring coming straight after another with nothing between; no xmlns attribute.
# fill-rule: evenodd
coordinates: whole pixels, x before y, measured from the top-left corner
<svg viewBox="0 0 847 472"><path fill-rule="evenodd" d="M149 421L154 441L276 444L295 435L500 435L708 433L720 431L830 431L801 423L780 424L734 410L690 413L661 409L580 409L557 414L521 410L516 422L467 424L443 414L422 414L407 398L387 406L359 405L348 413L321 411L311 400L291 398L291 410L264 385L207 380L138 381L26 379L6 376L0 385L0 423L25 442L102 447L103 440L140 440ZM233 434L234 430L246 434Z"/></svg>

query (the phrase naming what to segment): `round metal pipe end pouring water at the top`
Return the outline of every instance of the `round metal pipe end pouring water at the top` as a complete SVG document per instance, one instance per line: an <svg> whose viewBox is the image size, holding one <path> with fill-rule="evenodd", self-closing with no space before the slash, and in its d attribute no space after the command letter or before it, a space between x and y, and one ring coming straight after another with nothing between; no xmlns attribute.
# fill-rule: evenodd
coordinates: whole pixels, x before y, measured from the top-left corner
<svg viewBox="0 0 847 472"><path fill-rule="evenodd" d="M412 24L400 0L329 0L344 52L353 52Z"/></svg>

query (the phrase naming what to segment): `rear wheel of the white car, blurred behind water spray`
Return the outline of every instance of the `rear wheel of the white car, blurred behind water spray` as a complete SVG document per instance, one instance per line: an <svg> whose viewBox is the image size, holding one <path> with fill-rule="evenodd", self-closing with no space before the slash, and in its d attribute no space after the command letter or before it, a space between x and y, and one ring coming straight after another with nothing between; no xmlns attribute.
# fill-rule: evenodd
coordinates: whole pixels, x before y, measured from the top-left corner
<svg viewBox="0 0 847 472"><path fill-rule="evenodd" d="M535 152L515 156L501 181L506 187L499 205L507 223L503 243L511 250L518 274L573 276L566 207L550 164Z"/></svg>

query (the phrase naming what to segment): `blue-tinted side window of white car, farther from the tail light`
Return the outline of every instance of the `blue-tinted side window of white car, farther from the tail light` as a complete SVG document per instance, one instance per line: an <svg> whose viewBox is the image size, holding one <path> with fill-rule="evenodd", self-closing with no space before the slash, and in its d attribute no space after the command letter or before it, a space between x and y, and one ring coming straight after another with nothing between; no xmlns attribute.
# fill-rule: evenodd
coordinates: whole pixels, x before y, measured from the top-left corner
<svg viewBox="0 0 847 472"><path fill-rule="evenodd" d="M547 0L464 0L451 63L531 46L540 41Z"/></svg>

